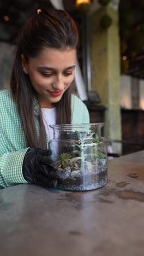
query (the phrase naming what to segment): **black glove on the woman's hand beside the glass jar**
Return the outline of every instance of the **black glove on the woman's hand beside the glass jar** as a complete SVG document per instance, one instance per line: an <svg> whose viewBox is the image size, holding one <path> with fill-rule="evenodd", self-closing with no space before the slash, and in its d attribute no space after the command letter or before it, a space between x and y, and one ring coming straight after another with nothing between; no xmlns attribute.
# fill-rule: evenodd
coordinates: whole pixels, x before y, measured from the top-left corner
<svg viewBox="0 0 144 256"><path fill-rule="evenodd" d="M50 150L29 148L23 159L22 174L28 183L57 187L57 171L51 165Z"/></svg>

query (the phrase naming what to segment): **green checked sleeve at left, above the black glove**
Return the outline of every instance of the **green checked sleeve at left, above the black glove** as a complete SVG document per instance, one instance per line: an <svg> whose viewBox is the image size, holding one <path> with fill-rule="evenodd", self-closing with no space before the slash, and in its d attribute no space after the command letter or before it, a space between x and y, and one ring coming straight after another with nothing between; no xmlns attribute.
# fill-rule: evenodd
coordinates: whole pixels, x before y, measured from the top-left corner
<svg viewBox="0 0 144 256"><path fill-rule="evenodd" d="M26 183L22 176L27 152L16 103L9 90L0 92L0 187Z"/></svg>

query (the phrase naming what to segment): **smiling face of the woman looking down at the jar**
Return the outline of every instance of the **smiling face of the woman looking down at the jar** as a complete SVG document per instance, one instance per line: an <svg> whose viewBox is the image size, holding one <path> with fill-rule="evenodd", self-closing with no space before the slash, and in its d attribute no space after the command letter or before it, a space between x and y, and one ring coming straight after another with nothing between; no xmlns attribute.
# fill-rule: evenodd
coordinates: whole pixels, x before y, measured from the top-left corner
<svg viewBox="0 0 144 256"><path fill-rule="evenodd" d="M44 48L38 57L30 57L28 63L23 55L21 59L23 71L29 75L40 106L52 108L74 80L76 50Z"/></svg>

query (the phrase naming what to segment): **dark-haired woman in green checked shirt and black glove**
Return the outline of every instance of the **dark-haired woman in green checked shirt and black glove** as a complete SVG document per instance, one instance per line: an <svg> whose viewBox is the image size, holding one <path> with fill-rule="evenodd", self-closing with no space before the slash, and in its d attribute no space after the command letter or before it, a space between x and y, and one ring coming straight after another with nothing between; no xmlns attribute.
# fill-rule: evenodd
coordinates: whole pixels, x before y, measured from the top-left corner
<svg viewBox="0 0 144 256"><path fill-rule="evenodd" d="M64 11L35 13L19 33L10 90L0 92L0 185L56 187L49 124L89 123L85 104L71 94L78 33Z"/></svg>

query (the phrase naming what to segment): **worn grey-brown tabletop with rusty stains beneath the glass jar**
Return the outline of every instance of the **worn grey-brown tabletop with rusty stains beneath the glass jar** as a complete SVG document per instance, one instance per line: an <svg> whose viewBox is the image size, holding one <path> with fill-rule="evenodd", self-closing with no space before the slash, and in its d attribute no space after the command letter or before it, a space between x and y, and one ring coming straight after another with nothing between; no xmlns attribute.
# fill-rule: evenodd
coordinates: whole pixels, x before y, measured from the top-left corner
<svg viewBox="0 0 144 256"><path fill-rule="evenodd" d="M144 255L144 150L109 161L109 183L0 190L2 256Z"/></svg>

